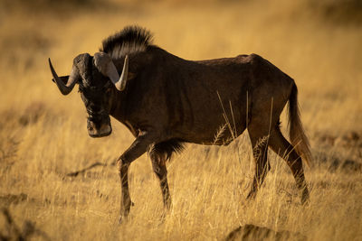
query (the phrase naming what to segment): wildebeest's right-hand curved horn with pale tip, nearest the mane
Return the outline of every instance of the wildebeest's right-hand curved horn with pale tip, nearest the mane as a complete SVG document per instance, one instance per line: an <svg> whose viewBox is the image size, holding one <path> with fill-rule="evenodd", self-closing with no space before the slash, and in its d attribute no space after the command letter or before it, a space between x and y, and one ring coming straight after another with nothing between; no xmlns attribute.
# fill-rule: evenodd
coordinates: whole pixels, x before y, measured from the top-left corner
<svg viewBox="0 0 362 241"><path fill-rule="evenodd" d="M129 55L126 55L122 73L119 77L119 72L116 69L113 61L110 59L110 55L105 52L96 52L94 54L94 63L100 72L110 78L112 83L119 91L126 88L128 76L129 76Z"/></svg>

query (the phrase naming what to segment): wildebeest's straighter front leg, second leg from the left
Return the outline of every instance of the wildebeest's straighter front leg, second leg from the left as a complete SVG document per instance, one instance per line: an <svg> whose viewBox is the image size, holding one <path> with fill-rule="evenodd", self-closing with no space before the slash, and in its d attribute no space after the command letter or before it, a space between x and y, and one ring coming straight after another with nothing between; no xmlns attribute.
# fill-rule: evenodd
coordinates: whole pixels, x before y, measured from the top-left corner
<svg viewBox="0 0 362 241"><path fill-rule="evenodd" d="M149 157L151 158L152 161L153 171L156 173L157 178L159 180L159 185L162 191L162 197L164 200L165 208L170 209L172 202L167 183L166 154L158 153L157 150L151 150L149 152Z"/></svg>

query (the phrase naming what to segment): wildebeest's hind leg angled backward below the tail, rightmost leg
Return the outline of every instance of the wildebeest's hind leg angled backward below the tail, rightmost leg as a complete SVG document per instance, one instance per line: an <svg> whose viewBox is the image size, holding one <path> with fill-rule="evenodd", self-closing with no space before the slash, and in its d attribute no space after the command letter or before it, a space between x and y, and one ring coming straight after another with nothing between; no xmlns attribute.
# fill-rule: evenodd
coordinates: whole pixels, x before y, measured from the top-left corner
<svg viewBox="0 0 362 241"><path fill-rule="evenodd" d="M271 132L269 140L271 149L278 153L291 168L291 172L301 193L301 203L304 204L310 199L310 193L304 178L303 165L300 155L294 151L294 147L284 138L278 126L275 126Z"/></svg>

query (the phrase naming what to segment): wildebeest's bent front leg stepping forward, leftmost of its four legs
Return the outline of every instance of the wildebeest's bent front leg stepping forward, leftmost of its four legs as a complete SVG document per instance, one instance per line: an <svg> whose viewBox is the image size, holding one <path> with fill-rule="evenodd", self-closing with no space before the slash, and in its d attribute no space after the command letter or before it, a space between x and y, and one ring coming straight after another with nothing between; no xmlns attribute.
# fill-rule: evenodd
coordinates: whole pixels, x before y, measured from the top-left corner
<svg viewBox="0 0 362 241"><path fill-rule="evenodd" d="M119 157L119 178L121 184L121 202L120 202L120 218L126 218L129 215L129 209L132 201L129 196L129 165L143 153L146 153L149 144L154 142L154 135L142 134L129 146L129 149Z"/></svg>

